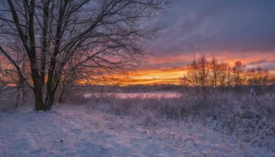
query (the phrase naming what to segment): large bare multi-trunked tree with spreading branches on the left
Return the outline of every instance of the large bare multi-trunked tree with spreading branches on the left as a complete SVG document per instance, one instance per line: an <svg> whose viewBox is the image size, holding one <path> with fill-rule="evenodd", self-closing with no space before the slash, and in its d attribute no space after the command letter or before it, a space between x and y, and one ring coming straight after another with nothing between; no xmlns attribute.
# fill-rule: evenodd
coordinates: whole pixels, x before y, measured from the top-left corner
<svg viewBox="0 0 275 157"><path fill-rule="evenodd" d="M34 91L35 109L48 110L67 70L87 67L115 70L134 65L137 57L144 54L147 39L153 39L165 27L154 24L152 19L168 8L170 2L1 1L0 52ZM22 52L14 51L12 41L20 41ZM17 53L26 55L17 59ZM73 67L68 65L72 58L76 61ZM23 64L27 65L25 70Z"/></svg>

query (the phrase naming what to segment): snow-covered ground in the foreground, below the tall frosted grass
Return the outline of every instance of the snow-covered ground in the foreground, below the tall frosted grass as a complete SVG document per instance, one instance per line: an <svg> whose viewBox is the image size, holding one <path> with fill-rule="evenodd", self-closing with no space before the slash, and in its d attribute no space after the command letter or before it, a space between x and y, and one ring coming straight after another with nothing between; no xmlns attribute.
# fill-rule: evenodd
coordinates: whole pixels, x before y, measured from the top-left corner
<svg viewBox="0 0 275 157"><path fill-rule="evenodd" d="M275 156L200 123L115 116L87 105L0 113L0 156Z"/></svg>

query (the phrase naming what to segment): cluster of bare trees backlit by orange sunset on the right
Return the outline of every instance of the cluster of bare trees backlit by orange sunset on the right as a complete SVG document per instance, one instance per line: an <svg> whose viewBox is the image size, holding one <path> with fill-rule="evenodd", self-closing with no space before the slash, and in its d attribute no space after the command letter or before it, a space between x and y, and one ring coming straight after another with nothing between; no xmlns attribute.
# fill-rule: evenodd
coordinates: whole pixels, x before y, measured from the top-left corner
<svg viewBox="0 0 275 157"><path fill-rule="evenodd" d="M199 56L188 64L186 74L179 78L180 84L188 87L241 87L243 85L263 86L275 82L267 68L246 68L241 61L231 67L228 63L219 63L215 56L207 59Z"/></svg>

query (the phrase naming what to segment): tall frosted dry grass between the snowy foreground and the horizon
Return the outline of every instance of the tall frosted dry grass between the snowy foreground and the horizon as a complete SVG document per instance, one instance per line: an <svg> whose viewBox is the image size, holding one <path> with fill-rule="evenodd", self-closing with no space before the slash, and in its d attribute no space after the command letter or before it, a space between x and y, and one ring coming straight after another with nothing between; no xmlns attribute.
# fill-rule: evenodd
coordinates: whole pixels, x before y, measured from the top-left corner
<svg viewBox="0 0 275 157"><path fill-rule="evenodd" d="M275 151L275 100L268 93L254 98L250 98L249 92L238 95L212 93L204 100L192 94L181 98L120 98L115 94L102 94L85 100L85 103L100 112L143 117L145 125L157 125L159 119L199 122L222 134L234 134L248 147L266 145Z"/></svg>

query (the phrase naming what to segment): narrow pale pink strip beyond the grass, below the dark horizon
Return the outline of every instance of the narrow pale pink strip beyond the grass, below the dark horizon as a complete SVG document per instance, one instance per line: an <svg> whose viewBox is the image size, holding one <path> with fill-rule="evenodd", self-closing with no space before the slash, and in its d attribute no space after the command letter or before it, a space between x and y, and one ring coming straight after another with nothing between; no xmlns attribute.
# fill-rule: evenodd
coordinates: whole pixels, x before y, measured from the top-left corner
<svg viewBox="0 0 275 157"><path fill-rule="evenodd" d="M115 96L119 98L179 98L180 93L91 93L83 94L85 98L91 98L91 96Z"/></svg>

